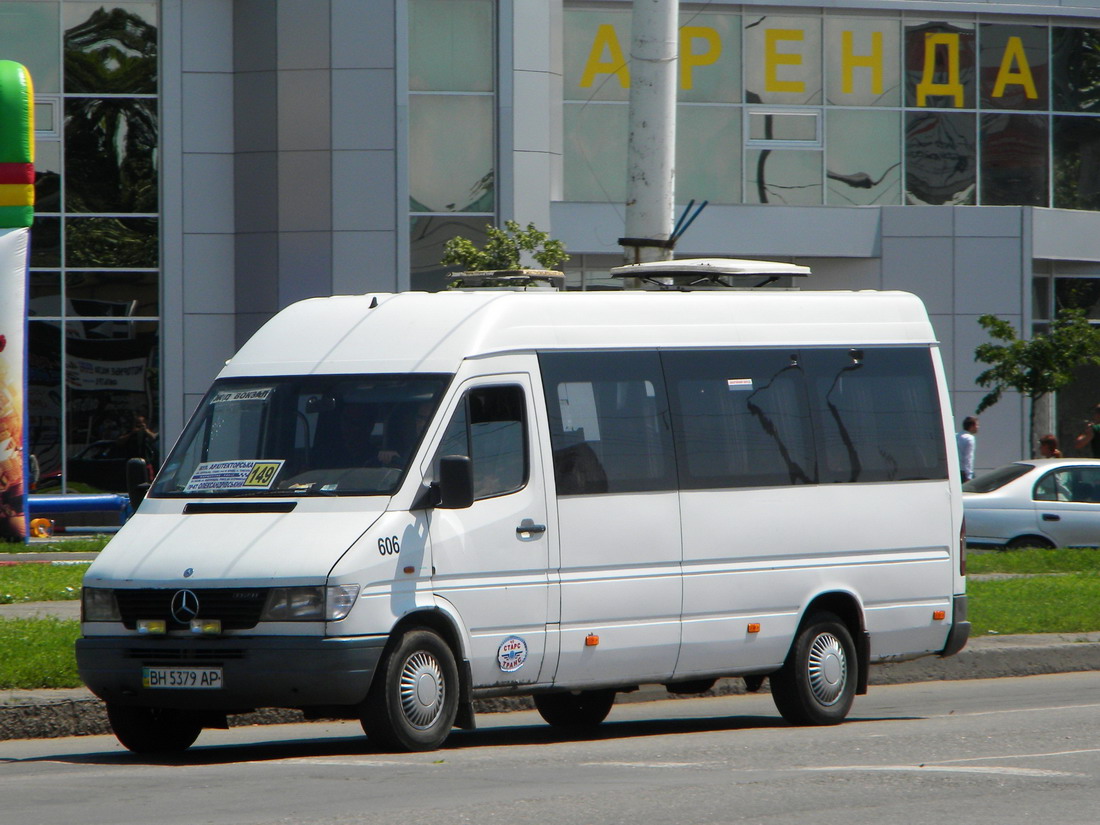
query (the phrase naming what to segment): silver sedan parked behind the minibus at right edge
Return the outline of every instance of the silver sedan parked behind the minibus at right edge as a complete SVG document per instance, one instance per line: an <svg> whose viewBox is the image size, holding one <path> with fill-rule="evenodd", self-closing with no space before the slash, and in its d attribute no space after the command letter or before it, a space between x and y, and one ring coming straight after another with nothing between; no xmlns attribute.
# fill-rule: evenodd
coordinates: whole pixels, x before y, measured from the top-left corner
<svg viewBox="0 0 1100 825"><path fill-rule="evenodd" d="M1100 547L1100 459L1015 461L963 485L970 547Z"/></svg>

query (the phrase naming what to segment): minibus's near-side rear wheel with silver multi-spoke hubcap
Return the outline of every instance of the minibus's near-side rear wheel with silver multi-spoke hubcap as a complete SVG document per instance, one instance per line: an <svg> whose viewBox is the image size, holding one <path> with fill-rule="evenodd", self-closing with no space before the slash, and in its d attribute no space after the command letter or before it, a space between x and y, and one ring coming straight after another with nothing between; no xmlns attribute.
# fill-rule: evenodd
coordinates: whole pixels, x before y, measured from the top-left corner
<svg viewBox="0 0 1100 825"><path fill-rule="evenodd" d="M837 725L856 695L856 646L832 613L802 623L783 667L771 674L771 696L792 725Z"/></svg>

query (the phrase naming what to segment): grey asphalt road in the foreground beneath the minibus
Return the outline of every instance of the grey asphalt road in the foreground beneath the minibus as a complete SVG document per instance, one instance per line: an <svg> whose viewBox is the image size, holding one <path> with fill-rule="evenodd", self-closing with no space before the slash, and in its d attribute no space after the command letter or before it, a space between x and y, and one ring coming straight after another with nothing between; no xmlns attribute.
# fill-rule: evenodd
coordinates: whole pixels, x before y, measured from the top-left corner
<svg viewBox="0 0 1100 825"><path fill-rule="evenodd" d="M92 736L0 743L21 825L799 823L1093 825L1100 676L878 686L844 725L788 727L768 696L617 705L590 739L534 713L443 750L375 752L356 725L208 730L151 762Z"/></svg>

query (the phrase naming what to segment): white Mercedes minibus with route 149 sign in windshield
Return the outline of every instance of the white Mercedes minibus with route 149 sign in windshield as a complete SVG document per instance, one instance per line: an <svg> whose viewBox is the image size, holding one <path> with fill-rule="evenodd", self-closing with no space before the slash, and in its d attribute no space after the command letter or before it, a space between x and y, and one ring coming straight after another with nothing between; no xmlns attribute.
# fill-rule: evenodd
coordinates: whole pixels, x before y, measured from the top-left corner
<svg viewBox="0 0 1100 825"><path fill-rule="evenodd" d="M304 300L91 564L79 672L138 752L260 707L425 750L482 697L578 728L724 676L835 724L966 644L950 420L904 293Z"/></svg>

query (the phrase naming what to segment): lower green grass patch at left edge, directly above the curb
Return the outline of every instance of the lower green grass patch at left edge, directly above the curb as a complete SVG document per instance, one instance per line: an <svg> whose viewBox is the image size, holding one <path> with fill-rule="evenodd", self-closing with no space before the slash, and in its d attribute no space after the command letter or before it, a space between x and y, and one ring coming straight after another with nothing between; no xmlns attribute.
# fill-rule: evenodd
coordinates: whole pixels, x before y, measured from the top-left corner
<svg viewBox="0 0 1100 825"><path fill-rule="evenodd" d="M79 688L79 622L0 619L0 690Z"/></svg>

